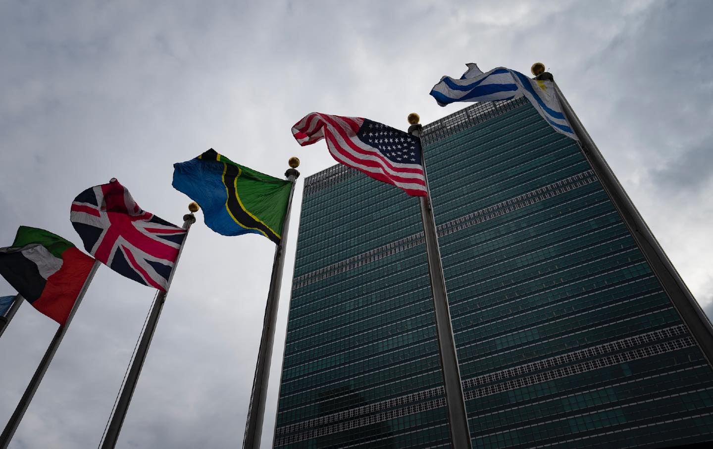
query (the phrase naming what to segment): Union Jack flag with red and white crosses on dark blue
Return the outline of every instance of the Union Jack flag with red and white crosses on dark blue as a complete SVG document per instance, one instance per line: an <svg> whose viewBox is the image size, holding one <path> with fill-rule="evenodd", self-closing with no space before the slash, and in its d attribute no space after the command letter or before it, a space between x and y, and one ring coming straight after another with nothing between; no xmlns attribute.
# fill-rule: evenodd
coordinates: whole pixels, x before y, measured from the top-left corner
<svg viewBox="0 0 713 449"><path fill-rule="evenodd" d="M86 250L129 279L168 288L186 230L142 210L116 178L81 192L69 220Z"/></svg>

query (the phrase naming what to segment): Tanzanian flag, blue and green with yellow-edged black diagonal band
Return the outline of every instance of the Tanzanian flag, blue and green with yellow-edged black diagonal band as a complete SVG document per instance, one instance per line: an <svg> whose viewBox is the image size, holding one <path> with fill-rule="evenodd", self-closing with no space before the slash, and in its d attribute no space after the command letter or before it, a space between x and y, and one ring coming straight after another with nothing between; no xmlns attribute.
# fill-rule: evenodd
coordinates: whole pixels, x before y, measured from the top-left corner
<svg viewBox="0 0 713 449"><path fill-rule="evenodd" d="M218 234L262 234L276 244L292 182L232 162L212 148L198 158L173 164L173 187L203 210L205 224Z"/></svg>

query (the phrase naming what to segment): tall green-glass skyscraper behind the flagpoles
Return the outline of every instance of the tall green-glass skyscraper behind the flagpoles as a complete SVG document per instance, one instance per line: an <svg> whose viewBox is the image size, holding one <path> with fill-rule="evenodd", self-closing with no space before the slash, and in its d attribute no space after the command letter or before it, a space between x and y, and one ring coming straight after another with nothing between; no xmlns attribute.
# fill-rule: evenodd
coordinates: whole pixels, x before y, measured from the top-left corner
<svg viewBox="0 0 713 449"><path fill-rule="evenodd" d="M712 440L709 324L590 155L524 99L423 141L473 447ZM448 447L418 202L342 165L305 180L275 447Z"/></svg>

